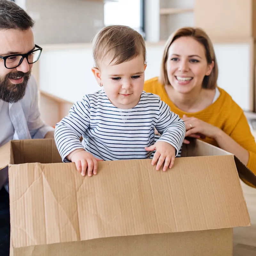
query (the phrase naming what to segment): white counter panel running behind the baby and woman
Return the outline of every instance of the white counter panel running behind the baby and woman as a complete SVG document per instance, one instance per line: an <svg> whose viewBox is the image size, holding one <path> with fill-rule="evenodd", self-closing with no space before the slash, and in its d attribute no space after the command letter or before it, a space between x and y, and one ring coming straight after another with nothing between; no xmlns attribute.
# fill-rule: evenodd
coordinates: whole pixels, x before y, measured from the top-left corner
<svg viewBox="0 0 256 256"><path fill-rule="evenodd" d="M145 79L158 76L163 45L147 46L148 67ZM219 65L218 85L244 110L250 109L249 44L214 44ZM91 47L47 50L40 57L40 88L64 100L75 102L86 93L99 90L91 68Z"/></svg>

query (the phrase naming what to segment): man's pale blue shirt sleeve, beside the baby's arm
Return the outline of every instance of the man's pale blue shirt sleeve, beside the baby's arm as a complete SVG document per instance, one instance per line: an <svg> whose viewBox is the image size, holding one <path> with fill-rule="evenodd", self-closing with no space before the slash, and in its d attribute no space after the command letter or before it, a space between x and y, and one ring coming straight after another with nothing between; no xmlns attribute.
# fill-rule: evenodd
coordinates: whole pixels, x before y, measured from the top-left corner
<svg viewBox="0 0 256 256"><path fill-rule="evenodd" d="M43 139L47 132L54 131L54 128L44 124L38 106L38 89L34 76L30 78L31 105L27 120L28 131L32 139Z"/></svg>

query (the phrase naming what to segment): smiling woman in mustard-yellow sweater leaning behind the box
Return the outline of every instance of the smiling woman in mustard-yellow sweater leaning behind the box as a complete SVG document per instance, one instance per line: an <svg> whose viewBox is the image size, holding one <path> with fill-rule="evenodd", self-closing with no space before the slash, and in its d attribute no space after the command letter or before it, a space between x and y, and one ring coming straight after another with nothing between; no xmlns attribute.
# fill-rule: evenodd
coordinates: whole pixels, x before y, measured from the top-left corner
<svg viewBox="0 0 256 256"><path fill-rule="evenodd" d="M165 44L160 77L146 81L144 90L158 94L185 121L187 137L233 153L256 174L256 143L247 119L231 96L217 87L217 78L209 37L198 28L181 28Z"/></svg>

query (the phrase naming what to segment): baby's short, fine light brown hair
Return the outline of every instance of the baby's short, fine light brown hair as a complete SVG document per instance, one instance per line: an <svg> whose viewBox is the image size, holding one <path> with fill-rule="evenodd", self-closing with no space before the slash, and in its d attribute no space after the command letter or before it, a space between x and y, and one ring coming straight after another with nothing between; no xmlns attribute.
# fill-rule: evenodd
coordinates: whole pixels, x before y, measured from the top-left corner
<svg viewBox="0 0 256 256"><path fill-rule="evenodd" d="M93 60L96 68L108 54L114 64L120 64L143 55L146 63L146 46L143 37L136 30L121 25L107 26L93 38ZM109 63L109 64L110 64Z"/></svg>

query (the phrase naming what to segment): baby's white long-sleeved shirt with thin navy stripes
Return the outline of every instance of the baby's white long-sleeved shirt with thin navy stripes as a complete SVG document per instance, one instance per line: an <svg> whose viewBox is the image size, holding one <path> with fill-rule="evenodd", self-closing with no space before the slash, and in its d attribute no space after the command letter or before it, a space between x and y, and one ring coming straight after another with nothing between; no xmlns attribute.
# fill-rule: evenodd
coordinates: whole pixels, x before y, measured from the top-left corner
<svg viewBox="0 0 256 256"><path fill-rule="evenodd" d="M154 144L155 127L162 134L159 141L170 143L178 153L185 124L158 95L143 91L134 108L119 109L102 90L85 95L73 105L68 116L56 125L55 142L64 162L78 148L103 160L149 158L152 152L145 147Z"/></svg>

